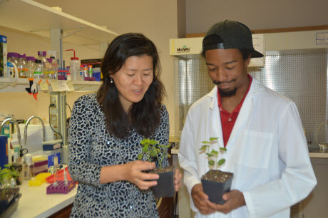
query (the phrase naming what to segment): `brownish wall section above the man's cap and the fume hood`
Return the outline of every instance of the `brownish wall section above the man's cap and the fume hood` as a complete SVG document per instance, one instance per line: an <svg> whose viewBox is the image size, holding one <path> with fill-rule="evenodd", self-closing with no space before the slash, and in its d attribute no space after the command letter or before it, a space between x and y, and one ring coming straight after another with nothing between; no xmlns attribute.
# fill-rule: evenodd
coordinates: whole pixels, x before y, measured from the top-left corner
<svg viewBox="0 0 328 218"><path fill-rule="evenodd" d="M251 30L328 25L327 9L327 0L187 0L187 33L206 32L225 19Z"/></svg>

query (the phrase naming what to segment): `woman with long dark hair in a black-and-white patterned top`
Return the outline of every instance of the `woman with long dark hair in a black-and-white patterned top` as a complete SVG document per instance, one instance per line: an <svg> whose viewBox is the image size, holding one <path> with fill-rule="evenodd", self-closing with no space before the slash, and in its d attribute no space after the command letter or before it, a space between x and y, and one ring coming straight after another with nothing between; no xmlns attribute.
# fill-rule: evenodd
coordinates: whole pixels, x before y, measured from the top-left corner
<svg viewBox="0 0 328 218"><path fill-rule="evenodd" d="M158 217L149 188L159 176L143 172L155 162L137 158L145 137L168 145L157 49L140 33L123 34L108 46L101 71L98 93L78 98L71 114L68 170L79 182L71 217ZM175 171L175 191L181 178Z"/></svg>

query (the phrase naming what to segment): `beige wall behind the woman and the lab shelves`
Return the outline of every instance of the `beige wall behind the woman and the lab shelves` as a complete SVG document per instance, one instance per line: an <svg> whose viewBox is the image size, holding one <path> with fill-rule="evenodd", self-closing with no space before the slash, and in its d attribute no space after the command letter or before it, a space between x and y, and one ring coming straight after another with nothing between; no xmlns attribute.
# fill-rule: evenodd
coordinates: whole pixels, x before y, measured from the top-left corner
<svg viewBox="0 0 328 218"><path fill-rule="evenodd" d="M179 1L179 0L178 0ZM162 64L161 79L165 85L168 97L164 103L170 114L170 133L174 134L174 83L173 58L169 56L169 39L178 38L177 0L167 1L130 1L130 0L99 0L99 1L47 1L38 0L47 6L60 6L62 11L100 26L106 25L117 33L140 32L145 34L158 47ZM10 18L9 18L10 19ZM51 48L50 41L21 33L9 28L0 28L0 34L8 36L8 50L29 55L36 55L36 51L46 51ZM63 49L76 48L79 58L98 58L98 51L91 48L77 47L63 44ZM71 53L64 53L64 58ZM80 93L68 95L72 106L74 98ZM48 97L39 94L38 102L31 100L27 93L0 93L0 113L14 113L17 118L28 119L31 115L48 116ZM4 101L3 101L4 100ZM21 109L24 105L24 111ZM69 114L69 113L68 113Z"/></svg>

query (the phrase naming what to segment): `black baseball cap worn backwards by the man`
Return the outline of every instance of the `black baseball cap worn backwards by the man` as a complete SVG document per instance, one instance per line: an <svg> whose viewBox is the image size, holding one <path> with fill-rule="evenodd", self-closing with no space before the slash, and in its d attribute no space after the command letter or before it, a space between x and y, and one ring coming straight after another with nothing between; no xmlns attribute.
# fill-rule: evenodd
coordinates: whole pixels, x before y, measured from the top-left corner
<svg viewBox="0 0 328 218"><path fill-rule="evenodd" d="M219 36L222 41L220 43L208 43L208 36ZM252 33L250 28L245 24L237 21L221 21L210 27L203 38L203 53L207 50L218 48L241 48L251 51L251 58L261 58L262 53L256 51L253 47Z"/></svg>

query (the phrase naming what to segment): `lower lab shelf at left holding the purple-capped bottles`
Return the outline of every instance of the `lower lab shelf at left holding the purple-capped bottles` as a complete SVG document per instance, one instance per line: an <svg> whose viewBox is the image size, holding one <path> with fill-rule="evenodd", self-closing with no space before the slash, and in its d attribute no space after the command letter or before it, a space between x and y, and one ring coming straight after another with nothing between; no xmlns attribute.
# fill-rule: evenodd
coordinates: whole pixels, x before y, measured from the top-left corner
<svg viewBox="0 0 328 218"><path fill-rule="evenodd" d="M98 81L72 81L74 91L97 91L103 82ZM0 92L6 93L26 93L25 88L29 87L27 78L0 78ZM41 91L38 85L39 91ZM51 85L49 85L51 90Z"/></svg>

